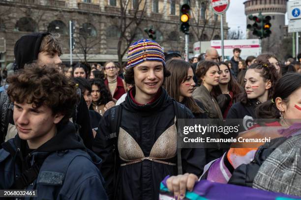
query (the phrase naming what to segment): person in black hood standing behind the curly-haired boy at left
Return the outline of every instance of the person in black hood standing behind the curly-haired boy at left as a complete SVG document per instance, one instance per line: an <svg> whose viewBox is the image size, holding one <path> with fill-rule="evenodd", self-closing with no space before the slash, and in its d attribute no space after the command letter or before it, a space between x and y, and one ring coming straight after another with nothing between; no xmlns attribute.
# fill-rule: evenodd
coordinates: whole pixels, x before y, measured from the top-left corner
<svg viewBox="0 0 301 200"><path fill-rule="evenodd" d="M17 72L24 69L26 64L36 62L38 65L48 65L59 67L61 64L60 55L62 54L59 41L49 32L37 32L22 36L15 44L15 62L13 69ZM14 125L13 103L6 95L5 87L0 88L0 143L16 135ZM72 115L72 121L78 127L79 134L85 146L91 149L93 134L90 127L89 110L85 99L80 98Z"/></svg>

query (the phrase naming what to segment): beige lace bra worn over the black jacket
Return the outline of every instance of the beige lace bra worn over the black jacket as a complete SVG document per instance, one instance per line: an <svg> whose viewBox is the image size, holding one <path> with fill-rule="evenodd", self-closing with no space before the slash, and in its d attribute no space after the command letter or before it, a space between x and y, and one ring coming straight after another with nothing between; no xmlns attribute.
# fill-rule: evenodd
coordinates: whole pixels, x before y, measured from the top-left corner
<svg viewBox="0 0 301 200"><path fill-rule="evenodd" d="M134 138L121 127L118 136L118 150L120 159L127 162L121 164L121 166L142 162L146 159L163 164L176 165L175 163L161 161L162 159L172 158L177 154L176 117L174 124L167 128L156 140L151 148L149 157L145 157Z"/></svg>

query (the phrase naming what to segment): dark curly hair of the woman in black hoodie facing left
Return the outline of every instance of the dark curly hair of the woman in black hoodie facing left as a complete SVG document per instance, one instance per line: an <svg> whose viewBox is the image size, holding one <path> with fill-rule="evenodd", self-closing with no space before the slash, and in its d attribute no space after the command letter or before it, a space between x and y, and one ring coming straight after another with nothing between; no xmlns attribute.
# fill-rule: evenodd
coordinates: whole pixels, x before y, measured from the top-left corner
<svg viewBox="0 0 301 200"><path fill-rule="evenodd" d="M264 81L271 80L271 88L269 89L268 93L268 99L271 100L276 82L279 79L279 74L277 73L276 68L270 62L264 63L257 60L254 64L250 65L247 71L251 69L254 69L256 72L260 73L260 76L263 77ZM241 93L239 100L242 104L249 103L249 99L247 98L247 94L245 91Z"/></svg>

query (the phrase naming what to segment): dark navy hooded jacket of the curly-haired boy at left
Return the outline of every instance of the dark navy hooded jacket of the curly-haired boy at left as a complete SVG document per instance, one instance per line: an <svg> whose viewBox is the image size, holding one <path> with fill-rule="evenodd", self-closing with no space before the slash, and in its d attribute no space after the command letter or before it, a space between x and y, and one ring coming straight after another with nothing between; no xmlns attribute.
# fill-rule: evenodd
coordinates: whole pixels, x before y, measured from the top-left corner
<svg viewBox="0 0 301 200"><path fill-rule="evenodd" d="M39 174L26 187L38 191L37 200L106 200L97 169L101 159L86 149L71 122L57 129L57 134L36 150L28 150L27 142L18 135L2 144L0 189L15 189L15 180L37 164Z"/></svg>

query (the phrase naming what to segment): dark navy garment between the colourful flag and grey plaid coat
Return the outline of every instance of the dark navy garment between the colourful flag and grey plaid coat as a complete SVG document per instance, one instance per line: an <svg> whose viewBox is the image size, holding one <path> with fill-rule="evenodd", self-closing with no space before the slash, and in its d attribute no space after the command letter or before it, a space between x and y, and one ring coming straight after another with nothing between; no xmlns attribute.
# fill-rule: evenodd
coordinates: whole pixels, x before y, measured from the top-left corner
<svg viewBox="0 0 301 200"><path fill-rule="evenodd" d="M249 164L242 164L236 168L228 181L229 184L252 187L254 178L264 161L277 147L279 147L286 137L272 139L270 143L265 143L255 153L254 159Z"/></svg>

